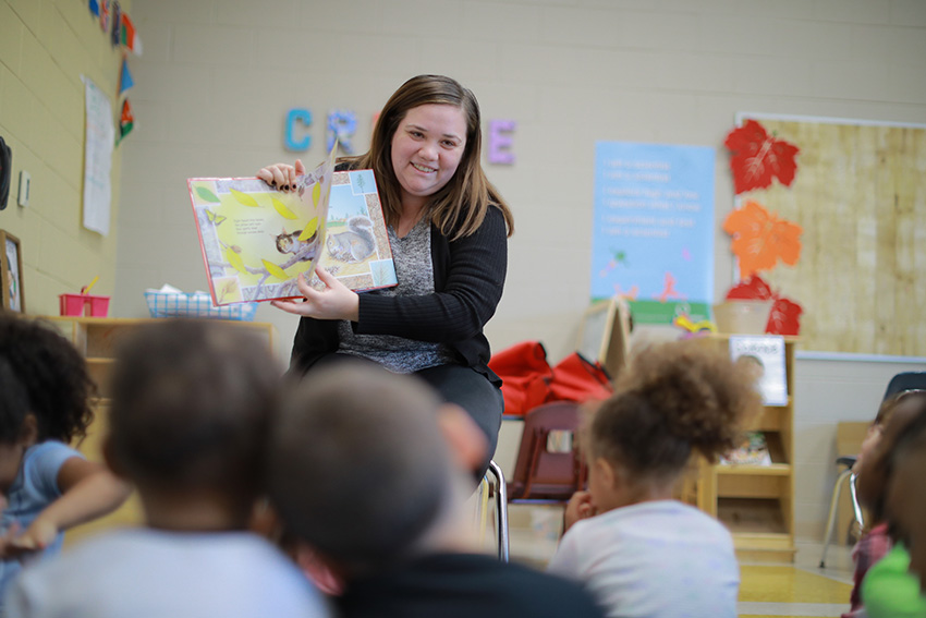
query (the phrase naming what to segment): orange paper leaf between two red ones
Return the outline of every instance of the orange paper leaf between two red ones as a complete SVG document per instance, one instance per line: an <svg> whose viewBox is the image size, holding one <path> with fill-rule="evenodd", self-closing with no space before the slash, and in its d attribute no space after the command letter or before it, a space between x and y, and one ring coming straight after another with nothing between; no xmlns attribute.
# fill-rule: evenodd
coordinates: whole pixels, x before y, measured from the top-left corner
<svg viewBox="0 0 926 618"><path fill-rule="evenodd" d="M746 202L723 221L723 231L733 237L733 254L740 258L740 278L769 270L781 259L793 266L801 257L801 226L779 219L761 204Z"/></svg>

